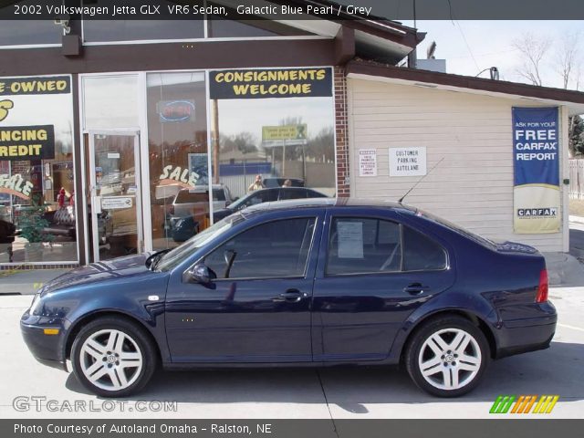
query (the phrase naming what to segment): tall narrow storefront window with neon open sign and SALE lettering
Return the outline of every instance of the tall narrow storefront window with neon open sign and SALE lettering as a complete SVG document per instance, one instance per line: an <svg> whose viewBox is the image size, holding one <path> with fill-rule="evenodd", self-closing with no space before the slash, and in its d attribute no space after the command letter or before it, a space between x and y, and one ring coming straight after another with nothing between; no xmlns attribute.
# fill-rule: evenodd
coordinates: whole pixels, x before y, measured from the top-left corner
<svg viewBox="0 0 584 438"><path fill-rule="evenodd" d="M162 249L210 223L204 73L149 73L147 85L151 234ZM212 195L218 207L226 196Z"/></svg>

